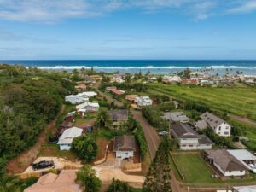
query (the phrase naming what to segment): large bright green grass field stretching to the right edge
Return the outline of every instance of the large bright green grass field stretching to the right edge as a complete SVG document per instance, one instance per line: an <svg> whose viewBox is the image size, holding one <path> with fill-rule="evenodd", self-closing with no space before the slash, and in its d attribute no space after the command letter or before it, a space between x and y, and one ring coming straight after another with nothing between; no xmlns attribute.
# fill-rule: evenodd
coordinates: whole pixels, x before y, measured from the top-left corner
<svg viewBox="0 0 256 192"><path fill-rule="evenodd" d="M162 93L186 101L201 102L217 111L227 111L256 120L255 87L201 87L150 84L149 93Z"/></svg>

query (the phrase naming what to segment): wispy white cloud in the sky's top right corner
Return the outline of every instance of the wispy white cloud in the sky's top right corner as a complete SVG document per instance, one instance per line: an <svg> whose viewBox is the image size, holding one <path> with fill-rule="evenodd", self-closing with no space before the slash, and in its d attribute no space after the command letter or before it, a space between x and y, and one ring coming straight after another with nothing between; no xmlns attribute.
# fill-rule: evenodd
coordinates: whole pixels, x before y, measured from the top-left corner
<svg viewBox="0 0 256 192"><path fill-rule="evenodd" d="M243 1L238 6L228 9L228 13L249 13L256 10L256 0Z"/></svg>

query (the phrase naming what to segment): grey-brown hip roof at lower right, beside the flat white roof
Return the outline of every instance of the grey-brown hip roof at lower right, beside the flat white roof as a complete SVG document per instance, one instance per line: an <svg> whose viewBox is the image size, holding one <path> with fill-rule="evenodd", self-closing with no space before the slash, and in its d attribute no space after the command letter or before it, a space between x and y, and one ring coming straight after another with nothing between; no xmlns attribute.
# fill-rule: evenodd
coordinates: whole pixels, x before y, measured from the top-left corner
<svg viewBox="0 0 256 192"><path fill-rule="evenodd" d="M247 168L236 160L227 150L206 150L207 157L212 159L224 172L245 171Z"/></svg>

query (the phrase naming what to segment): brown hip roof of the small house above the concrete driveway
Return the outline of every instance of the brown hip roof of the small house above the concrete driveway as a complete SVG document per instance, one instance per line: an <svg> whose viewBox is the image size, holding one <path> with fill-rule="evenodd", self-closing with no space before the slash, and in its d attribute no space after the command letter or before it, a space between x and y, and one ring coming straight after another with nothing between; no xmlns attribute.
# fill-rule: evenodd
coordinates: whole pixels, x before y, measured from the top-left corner
<svg viewBox="0 0 256 192"><path fill-rule="evenodd" d="M134 136L116 136L113 140L113 152L115 151L136 151Z"/></svg>

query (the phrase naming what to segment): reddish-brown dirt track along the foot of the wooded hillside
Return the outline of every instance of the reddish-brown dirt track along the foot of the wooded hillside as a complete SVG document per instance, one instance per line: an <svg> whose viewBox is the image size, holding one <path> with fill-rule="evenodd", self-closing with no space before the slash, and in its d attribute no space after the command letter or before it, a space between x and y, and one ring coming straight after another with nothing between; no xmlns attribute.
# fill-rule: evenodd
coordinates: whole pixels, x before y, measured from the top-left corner
<svg viewBox="0 0 256 192"><path fill-rule="evenodd" d="M55 121L58 118L61 113L63 113L65 110L65 105L62 105L61 110L59 114L56 116L56 118L47 125L47 127L42 131L42 133L38 136L37 143L35 143L31 148L28 150L22 152L18 156L16 156L14 159L9 160L6 170L10 174L16 174L20 172L24 172L28 166L32 164L34 160L37 159L37 155L42 148L42 145L47 142L46 137L47 133L49 131L52 131L55 128Z"/></svg>

